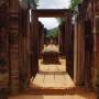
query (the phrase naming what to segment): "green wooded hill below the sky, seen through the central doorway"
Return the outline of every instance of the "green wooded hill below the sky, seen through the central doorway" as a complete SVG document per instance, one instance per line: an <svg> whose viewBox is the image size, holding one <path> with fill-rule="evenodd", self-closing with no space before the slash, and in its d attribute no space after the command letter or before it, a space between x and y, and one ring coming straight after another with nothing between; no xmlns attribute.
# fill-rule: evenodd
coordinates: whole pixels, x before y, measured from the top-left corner
<svg viewBox="0 0 99 99"><path fill-rule="evenodd" d="M58 37L58 28L47 30L46 37L47 38L50 38L50 37L53 37L53 38Z"/></svg>

